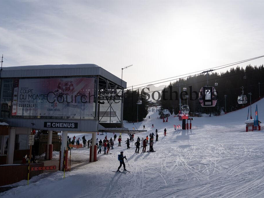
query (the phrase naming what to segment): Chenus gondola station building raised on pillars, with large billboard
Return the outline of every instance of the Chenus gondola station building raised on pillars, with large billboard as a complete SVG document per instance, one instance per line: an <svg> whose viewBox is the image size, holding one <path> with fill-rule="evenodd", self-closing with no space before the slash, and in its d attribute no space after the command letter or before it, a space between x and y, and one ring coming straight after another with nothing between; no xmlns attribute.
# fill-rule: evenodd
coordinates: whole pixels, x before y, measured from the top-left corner
<svg viewBox="0 0 264 198"><path fill-rule="evenodd" d="M96 161L97 132L129 133L123 127L122 115L126 82L102 67L95 64L4 67L0 77L1 164L13 164L15 160L17 164L28 154L32 131L47 131L47 159L52 156L55 132L62 133L62 154L67 150L69 132L92 133L92 147L87 156L90 162Z"/></svg>

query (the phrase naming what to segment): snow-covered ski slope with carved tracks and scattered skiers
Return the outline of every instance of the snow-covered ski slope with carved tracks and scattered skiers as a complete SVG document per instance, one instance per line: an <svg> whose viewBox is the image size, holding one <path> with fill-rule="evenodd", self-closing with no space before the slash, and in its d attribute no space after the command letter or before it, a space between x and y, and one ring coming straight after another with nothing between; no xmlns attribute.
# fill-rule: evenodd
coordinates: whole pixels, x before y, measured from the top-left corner
<svg viewBox="0 0 264 198"><path fill-rule="evenodd" d="M263 121L264 100L252 105L253 115L256 104L259 120ZM88 163L87 148L73 149L72 155L84 163L66 172L65 179L59 171L42 174L33 177L29 186L26 181L14 184L19 187L0 197L264 197L264 131L245 132L247 110L194 118L193 129L180 132L173 128L173 124L181 124L177 117L171 116L168 123L163 123L157 119L157 112L149 112L150 119L147 116L134 125L125 123L125 127L146 126L148 131L136 134L134 140L155 134L157 128L159 141L153 146L156 152L137 154L135 141L129 150L124 142L118 147L115 141L112 155L99 154L98 161ZM83 136L69 134L73 135ZM123 134L123 141L127 137ZM130 165L125 161L126 169L131 171L126 174L112 172L119 166L120 151L124 151Z"/></svg>

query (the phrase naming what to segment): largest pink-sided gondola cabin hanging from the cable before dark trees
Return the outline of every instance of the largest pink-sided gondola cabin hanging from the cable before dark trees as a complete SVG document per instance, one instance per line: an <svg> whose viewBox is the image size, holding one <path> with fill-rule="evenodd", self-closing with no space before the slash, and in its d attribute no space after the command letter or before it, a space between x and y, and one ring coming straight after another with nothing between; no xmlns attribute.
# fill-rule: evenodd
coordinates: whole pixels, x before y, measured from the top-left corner
<svg viewBox="0 0 264 198"><path fill-rule="evenodd" d="M214 87L202 87L199 93L199 101L202 107L214 107L217 102L217 92Z"/></svg>

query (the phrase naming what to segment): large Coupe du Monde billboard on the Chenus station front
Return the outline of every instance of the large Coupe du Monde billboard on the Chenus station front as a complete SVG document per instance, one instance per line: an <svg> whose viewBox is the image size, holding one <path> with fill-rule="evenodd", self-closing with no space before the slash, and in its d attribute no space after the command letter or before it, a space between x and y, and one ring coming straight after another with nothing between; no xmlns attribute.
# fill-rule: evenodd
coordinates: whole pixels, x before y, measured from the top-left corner
<svg viewBox="0 0 264 198"><path fill-rule="evenodd" d="M93 117L94 78L15 79L12 116Z"/></svg>

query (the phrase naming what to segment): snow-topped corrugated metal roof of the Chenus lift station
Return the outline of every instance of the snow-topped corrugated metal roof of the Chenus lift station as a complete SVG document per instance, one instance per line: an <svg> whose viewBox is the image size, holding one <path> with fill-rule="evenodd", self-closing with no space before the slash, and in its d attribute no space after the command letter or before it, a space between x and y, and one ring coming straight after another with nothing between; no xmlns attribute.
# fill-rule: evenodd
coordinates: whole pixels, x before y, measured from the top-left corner
<svg viewBox="0 0 264 198"><path fill-rule="evenodd" d="M95 64L3 67L1 78L100 75L121 85L121 79ZM122 87L126 88L123 81Z"/></svg>

